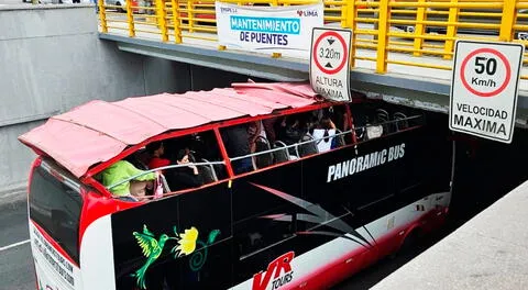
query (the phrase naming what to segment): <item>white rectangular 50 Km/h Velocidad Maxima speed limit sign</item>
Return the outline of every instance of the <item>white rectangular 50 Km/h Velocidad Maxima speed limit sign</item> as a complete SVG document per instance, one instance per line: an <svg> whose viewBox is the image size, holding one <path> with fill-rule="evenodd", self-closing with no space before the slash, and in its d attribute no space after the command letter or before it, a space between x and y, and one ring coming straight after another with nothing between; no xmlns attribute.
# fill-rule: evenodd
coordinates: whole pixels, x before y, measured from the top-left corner
<svg viewBox="0 0 528 290"><path fill-rule="evenodd" d="M449 127L512 143L525 46L457 42Z"/></svg>

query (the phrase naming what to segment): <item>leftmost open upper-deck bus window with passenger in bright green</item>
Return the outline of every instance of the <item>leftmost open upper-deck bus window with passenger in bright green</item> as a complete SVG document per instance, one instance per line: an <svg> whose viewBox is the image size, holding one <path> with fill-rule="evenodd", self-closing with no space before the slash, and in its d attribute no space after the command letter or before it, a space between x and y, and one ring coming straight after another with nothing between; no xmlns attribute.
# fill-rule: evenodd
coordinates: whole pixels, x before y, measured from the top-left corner
<svg viewBox="0 0 528 290"><path fill-rule="evenodd" d="M116 198L141 201L199 188L227 176L215 133L208 131L151 142L110 165L95 179Z"/></svg>

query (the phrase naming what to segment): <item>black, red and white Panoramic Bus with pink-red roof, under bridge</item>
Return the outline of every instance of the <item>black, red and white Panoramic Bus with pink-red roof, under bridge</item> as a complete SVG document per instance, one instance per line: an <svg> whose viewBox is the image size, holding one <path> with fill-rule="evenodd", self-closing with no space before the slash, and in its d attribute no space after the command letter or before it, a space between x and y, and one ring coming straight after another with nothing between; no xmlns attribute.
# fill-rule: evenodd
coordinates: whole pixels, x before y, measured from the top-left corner
<svg viewBox="0 0 528 290"><path fill-rule="evenodd" d="M36 154L37 289L321 289L442 223L443 123L305 83L91 101Z"/></svg>

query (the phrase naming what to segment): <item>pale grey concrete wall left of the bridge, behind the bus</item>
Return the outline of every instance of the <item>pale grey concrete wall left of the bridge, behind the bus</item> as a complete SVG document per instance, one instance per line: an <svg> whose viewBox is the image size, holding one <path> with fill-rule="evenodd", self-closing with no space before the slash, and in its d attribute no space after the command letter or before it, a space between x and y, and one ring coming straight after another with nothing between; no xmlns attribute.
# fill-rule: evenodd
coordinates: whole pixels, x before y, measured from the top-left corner
<svg viewBox="0 0 528 290"><path fill-rule="evenodd" d="M0 202L23 196L34 158L16 137L92 99L190 88L189 65L120 52L89 5L0 7Z"/></svg>

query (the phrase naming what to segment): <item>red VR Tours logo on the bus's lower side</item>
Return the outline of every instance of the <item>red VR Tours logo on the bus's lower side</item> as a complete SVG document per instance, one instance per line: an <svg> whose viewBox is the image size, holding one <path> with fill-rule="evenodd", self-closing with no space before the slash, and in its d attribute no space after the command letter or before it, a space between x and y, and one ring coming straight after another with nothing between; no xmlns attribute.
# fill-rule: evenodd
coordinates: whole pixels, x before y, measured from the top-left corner
<svg viewBox="0 0 528 290"><path fill-rule="evenodd" d="M294 259L294 252L288 252L274 259L272 263L270 263L270 265L267 265L267 270L264 275L264 278L262 277L262 271L255 274L255 276L253 276L253 290L265 290L270 282L272 282L272 289L278 289L290 282L294 278L294 271L292 270L289 263ZM272 275L273 281L271 281Z"/></svg>

